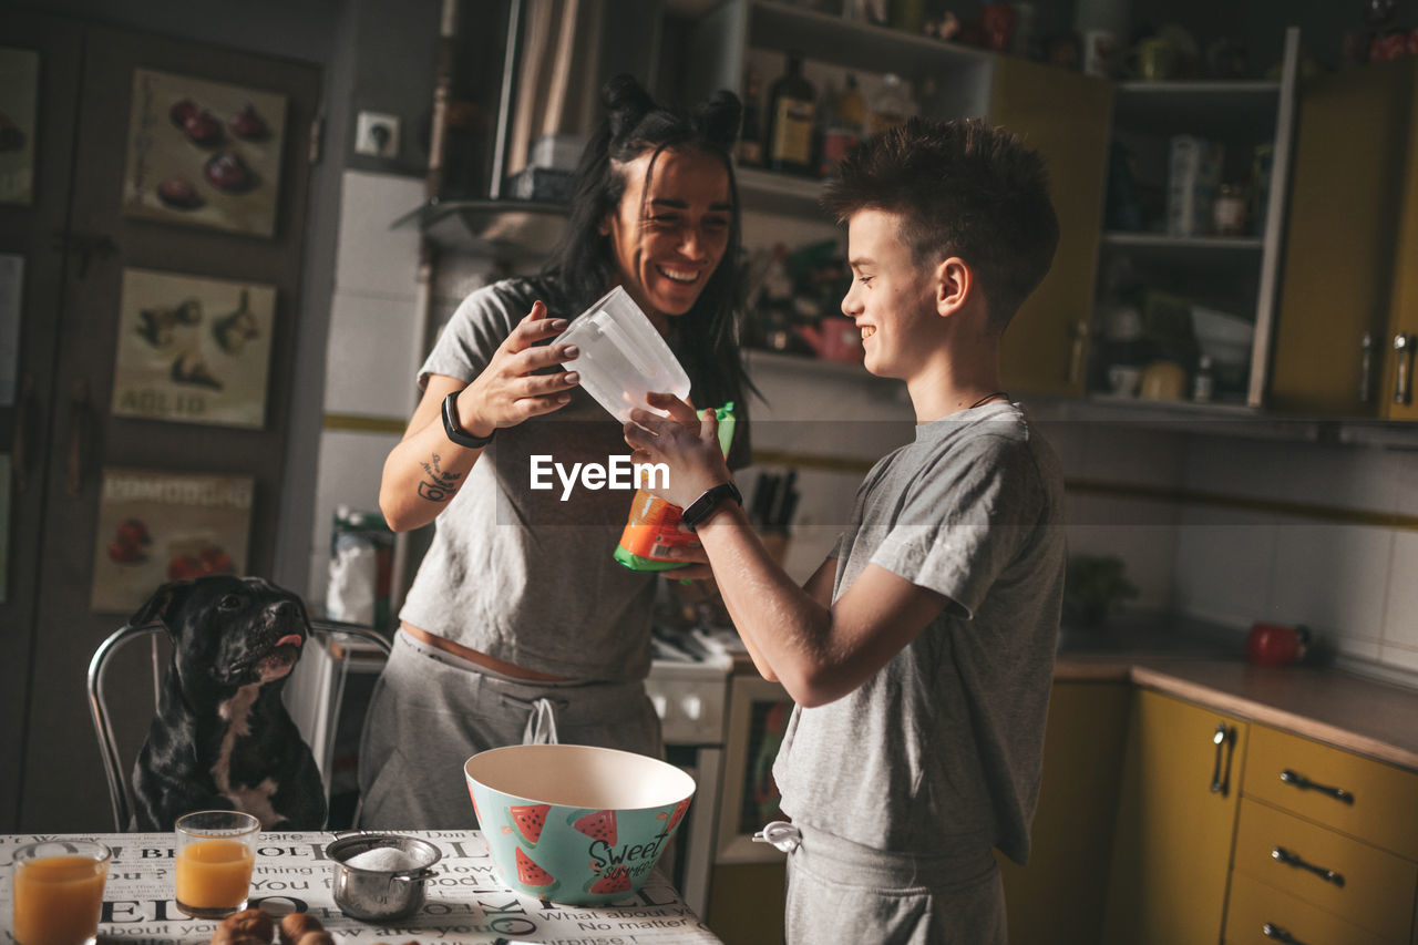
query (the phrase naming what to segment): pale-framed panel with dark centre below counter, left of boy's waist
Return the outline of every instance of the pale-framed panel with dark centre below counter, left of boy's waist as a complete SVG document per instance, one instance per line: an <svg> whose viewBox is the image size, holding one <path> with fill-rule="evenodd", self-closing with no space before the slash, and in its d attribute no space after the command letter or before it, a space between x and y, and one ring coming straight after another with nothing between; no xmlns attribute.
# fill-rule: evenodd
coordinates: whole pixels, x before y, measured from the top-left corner
<svg viewBox="0 0 1418 945"><path fill-rule="evenodd" d="M787 732L793 700L780 682L757 675L730 678L715 863L777 863L783 853L773 844L754 843L753 834L773 820L784 820L773 761Z"/></svg>

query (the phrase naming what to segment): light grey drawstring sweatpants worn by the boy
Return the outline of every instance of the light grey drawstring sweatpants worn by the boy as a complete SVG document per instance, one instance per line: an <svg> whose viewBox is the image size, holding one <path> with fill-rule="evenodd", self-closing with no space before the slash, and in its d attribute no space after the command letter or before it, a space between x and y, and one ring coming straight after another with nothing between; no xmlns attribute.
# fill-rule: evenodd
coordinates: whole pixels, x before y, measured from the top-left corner
<svg viewBox="0 0 1418 945"><path fill-rule="evenodd" d="M797 829L788 853L788 945L1005 945L1004 885L988 846L933 857L882 853Z"/></svg>

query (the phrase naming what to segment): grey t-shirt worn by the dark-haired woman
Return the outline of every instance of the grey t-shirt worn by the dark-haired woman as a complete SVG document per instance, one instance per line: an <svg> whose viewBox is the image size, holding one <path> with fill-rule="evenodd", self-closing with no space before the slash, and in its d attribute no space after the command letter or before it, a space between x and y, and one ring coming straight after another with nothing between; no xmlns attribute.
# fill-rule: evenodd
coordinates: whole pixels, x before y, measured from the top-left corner
<svg viewBox="0 0 1418 945"><path fill-rule="evenodd" d="M550 280L505 280L458 306L418 375L472 380L537 298L547 316L574 318ZM552 369L559 370L559 369ZM617 563L632 491L562 484L529 488L529 457L607 464L627 455L621 427L580 387L571 403L498 430L437 531L400 619L539 673L587 681L649 673L654 576Z"/></svg>

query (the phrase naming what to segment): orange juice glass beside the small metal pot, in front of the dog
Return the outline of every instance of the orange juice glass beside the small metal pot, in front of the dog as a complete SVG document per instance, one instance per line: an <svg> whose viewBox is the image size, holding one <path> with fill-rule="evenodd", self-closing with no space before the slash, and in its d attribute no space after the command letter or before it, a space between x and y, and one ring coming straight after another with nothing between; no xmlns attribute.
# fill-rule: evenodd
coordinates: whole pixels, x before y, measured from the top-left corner
<svg viewBox="0 0 1418 945"><path fill-rule="evenodd" d="M177 910L193 918L225 918L247 908L261 822L238 810L199 810L177 817Z"/></svg>

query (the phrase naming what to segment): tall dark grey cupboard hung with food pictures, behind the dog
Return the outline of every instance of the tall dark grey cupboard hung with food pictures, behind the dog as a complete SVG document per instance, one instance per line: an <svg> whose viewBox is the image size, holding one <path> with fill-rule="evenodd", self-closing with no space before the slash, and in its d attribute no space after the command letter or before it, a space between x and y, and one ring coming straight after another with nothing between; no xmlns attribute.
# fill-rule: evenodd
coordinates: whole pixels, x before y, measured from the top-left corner
<svg viewBox="0 0 1418 945"><path fill-rule="evenodd" d="M247 573L269 575L294 396L311 126L312 65L6 7L0 35L40 52L35 194L0 206L0 253L24 260L20 396L0 409L10 436L14 515L10 595L0 603L0 830L111 829L84 691L95 647L129 613L89 606L105 468L242 475L254 482ZM286 125L271 238L125 216L123 175L136 68L277 92ZM115 416L123 270L149 268L275 289L267 417L259 429ZM210 331L210 329L208 329ZM156 542L155 542L156 545ZM169 548L150 548L164 559ZM136 650L136 647L135 647ZM142 658L111 680L142 678ZM152 702L122 701L135 749ZM65 734L55 751L55 732ZM129 741L129 739L136 741Z"/></svg>

